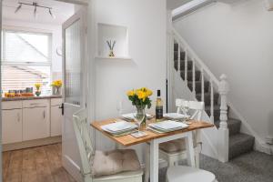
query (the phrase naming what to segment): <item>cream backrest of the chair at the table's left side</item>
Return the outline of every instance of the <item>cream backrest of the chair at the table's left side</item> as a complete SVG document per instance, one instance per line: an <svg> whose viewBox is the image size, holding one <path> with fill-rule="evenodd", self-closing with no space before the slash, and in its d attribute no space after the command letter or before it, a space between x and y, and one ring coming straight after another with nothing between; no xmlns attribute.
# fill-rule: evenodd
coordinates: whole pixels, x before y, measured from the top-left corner
<svg viewBox="0 0 273 182"><path fill-rule="evenodd" d="M84 176L91 176L91 165L95 150L90 137L90 124L87 121L86 108L73 115L73 127L82 162L81 172Z"/></svg>

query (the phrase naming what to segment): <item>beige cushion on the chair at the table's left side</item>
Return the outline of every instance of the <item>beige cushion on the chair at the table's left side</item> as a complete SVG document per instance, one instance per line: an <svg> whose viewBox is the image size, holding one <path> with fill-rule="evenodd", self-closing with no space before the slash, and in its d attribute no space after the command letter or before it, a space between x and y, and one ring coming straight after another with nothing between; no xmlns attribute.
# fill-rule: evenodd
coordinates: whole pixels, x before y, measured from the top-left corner
<svg viewBox="0 0 273 182"><path fill-rule="evenodd" d="M95 177L115 175L125 171L140 169L140 163L133 149L96 151L92 165Z"/></svg>

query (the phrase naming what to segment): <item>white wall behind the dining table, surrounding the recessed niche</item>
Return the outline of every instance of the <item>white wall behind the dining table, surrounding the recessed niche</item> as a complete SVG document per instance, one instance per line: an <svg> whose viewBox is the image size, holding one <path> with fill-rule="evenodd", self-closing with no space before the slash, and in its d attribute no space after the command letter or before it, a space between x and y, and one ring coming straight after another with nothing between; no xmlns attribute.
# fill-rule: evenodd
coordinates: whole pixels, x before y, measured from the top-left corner
<svg viewBox="0 0 273 182"><path fill-rule="evenodd" d="M131 110L126 91L147 86L161 89L166 100L166 0L96 0L97 23L128 28L128 53L132 60L96 59L96 119L116 117L116 103ZM155 105L155 102L153 102ZM148 112L153 112L151 109ZM114 142L96 135L97 149L111 149ZM141 148L141 147L138 147ZM138 150L141 158L141 149Z"/></svg>

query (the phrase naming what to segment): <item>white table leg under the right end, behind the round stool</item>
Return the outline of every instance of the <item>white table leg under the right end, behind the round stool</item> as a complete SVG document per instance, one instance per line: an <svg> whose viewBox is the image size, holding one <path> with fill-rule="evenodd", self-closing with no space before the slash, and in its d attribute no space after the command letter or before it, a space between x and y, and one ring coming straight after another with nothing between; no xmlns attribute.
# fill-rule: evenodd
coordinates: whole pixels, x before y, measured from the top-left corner
<svg viewBox="0 0 273 182"><path fill-rule="evenodd" d="M192 132L187 132L185 141L186 141L186 149L187 149L187 165L190 167L196 167L195 149L193 147Z"/></svg>

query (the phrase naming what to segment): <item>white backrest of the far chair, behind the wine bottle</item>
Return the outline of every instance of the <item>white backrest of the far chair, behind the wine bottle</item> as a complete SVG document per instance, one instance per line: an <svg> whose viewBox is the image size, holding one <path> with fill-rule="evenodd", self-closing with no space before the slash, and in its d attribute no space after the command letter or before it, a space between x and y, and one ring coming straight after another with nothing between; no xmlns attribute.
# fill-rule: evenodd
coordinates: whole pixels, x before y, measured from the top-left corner
<svg viewBox="0 0 273 182"><path fill-rule="evenodd" d="M204 102L198 101L187 101L184 99L176 99L177 113L181 112L181 107L187 106L190 110L194 111L194 114L190 117L191 119L201 120L204 111Z"/></svg>

